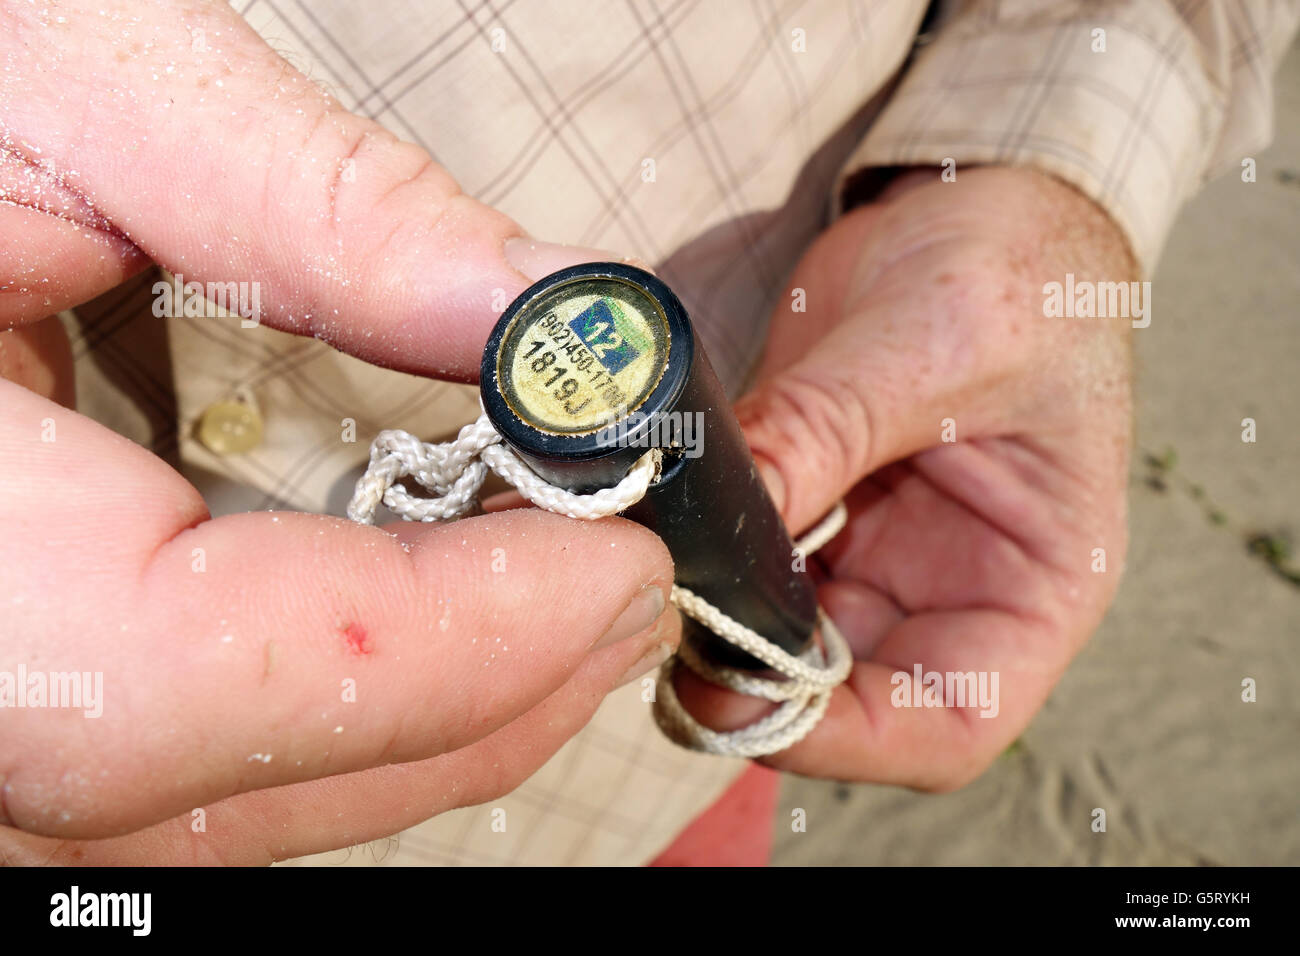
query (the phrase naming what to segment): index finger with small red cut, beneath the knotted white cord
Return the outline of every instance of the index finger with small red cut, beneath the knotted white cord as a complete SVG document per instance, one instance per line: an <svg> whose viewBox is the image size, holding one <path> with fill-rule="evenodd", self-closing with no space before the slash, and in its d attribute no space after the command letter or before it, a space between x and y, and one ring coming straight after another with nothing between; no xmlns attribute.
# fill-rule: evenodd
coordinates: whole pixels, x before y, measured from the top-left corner
<svg viewBox="0 0 1300 956"><path fill-rule="evenodd" d="M213 520L125 438L9 382L0 406L0 670L103 688L92 708L0 710L0 822L103 836L432 757L602 640L628 666L676 640L653 630L667 549L630 522L514 511L399 541L318 515Z"/></svg>

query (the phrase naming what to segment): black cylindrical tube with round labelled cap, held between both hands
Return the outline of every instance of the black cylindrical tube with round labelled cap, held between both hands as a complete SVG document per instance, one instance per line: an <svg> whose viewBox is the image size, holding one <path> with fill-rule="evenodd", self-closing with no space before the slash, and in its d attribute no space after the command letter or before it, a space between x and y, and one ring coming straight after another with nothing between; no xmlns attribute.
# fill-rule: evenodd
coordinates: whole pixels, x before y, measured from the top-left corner
<svg viewBox="0 0 1300 956"><path fill-rule="evenodd" d="M767 494L685 308L655 276L578 265L526 289L484 352L484 407L543 479L590 493L649 449L663 467L623 512L667 544L676 580L798 654L816 626L809 574ZM688 622L719 663L766 665Z"/></svg>

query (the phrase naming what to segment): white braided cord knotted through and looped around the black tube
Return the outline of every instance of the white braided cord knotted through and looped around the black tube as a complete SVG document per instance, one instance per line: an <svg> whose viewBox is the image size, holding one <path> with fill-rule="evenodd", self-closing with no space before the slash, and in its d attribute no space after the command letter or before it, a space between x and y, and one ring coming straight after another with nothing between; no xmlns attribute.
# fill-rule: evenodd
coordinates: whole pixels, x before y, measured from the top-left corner
<svg viewBox="0 0 1300 956"><path fill-rule="evenodd" d="M370 445L370 463L358 480L347 516L373 524L380 503L408 522L452 522L478 507L478 492L488 468L500 475L538 507L569 518L595 519L618 514L641 501L659 475L662 453L651 449L612 488L573 494L546 481L502 442L488 415L465 425L447 442L433 445L402 431L380 432ZM434 497L417 497L399 484L411 477ZM846 512L838 503L796 544L811 554L838 533ZM777 676L724 667L706 661L689 641L660 669L654 717L673 741L694 750L728 757L762 757L794 745L811 732L831 702L831 693L853 667L835 622L818 610L822 645L812 641L800 656L790 654L727 617L694 592L675 584L672 602L682 614L766 663ZM696 721L677 698L673 670L685 665L702 679L737 693L780 704L767 717L737 731L715 731Z"/></svg>

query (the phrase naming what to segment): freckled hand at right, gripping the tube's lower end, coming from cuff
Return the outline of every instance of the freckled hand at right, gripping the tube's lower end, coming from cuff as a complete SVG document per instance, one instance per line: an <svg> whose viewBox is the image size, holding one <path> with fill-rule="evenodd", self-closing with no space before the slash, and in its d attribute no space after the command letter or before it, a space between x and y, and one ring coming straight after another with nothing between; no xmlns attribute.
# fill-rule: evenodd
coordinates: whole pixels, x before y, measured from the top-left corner
<svg viewBox="0 0 1300 956"><path fill-rule="evenodd" d="M1136 276L1112 221L1045 176L898 186L805 255L789 291L807 312L777 308L737 411L792 531L841 497L850 515L816 558L857 665L818 728L764 762L945 790L1024 728L1114 596L1130 320L1044 317L1043 286ZM915 665L997 672L996 717L894 706ZM710 726L767 709L681 680Z"/></svg>

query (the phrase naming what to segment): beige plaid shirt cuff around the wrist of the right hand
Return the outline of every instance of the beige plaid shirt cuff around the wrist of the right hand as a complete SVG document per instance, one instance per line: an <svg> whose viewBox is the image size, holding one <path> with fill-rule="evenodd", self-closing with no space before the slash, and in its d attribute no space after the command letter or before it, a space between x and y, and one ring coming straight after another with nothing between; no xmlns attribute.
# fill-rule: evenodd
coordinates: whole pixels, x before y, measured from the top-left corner
<svg viewBox="0 0 1300 956"><path fill-rule="evenodd" d="M952 21L918 51L835 195L870 168L948 164L961 176L972 165L1034 166L1098 203L1149 274L1201 182L1226 100L1186 25L1153 16L1158 7L1141 23ZM1098 29L1104 52L1095 52Z"/></svg>

